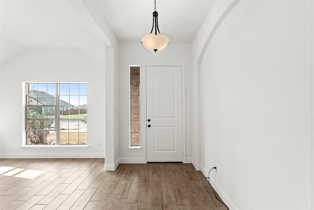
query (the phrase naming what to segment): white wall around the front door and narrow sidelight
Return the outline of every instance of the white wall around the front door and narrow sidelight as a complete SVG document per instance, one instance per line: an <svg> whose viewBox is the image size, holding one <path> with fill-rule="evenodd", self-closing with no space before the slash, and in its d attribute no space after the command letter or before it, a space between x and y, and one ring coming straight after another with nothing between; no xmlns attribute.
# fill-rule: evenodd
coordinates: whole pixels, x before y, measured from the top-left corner
<svg viewBox="0 0 314 210"><path fill-rule="evenodd" d="M191 45L170 43L160 52L150 52L139 43L119 44L119 154L120 163L143 163L146 159L145 137L141 136L140 151L128 150L130 146L129 70L130 65L139 65L145 71L145 64L185 64L185 115L186 115L186 161L191 162ZM142 76L142 75L141 75ZM141 78L141 84L145 78ZM142 92L141 92L142 93ZM145 102L141 101L141 109ZM145 113L145 112L144 112ZM145 121L145 116L141 116ZM141 132L145 125L141 121Z"/></svg>

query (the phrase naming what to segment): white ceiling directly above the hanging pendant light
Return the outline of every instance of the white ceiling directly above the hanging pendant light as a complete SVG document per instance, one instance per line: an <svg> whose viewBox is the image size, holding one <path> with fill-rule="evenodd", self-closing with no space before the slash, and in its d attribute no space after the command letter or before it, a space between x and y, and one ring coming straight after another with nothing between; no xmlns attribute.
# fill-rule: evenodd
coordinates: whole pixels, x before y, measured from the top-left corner
<svg viewBox="0 0 314 210"><path fill-rule="evenodd" d="M160 33L173 43L191 43L213 2L157 0ZM140 42L152 30L154 0L101 0L96 4L119 42Z"/></svg>

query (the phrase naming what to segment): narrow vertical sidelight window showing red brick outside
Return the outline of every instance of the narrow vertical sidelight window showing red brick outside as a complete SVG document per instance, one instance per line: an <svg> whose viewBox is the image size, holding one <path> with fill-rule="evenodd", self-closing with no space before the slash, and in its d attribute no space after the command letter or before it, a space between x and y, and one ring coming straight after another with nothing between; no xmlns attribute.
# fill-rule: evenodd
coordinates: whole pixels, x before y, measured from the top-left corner
<svg viewBox="0 0 314 210"><path fill-rule="evenodd" d="M130 68L131 146L140 146L140 95L139 67Z"/></svg>

